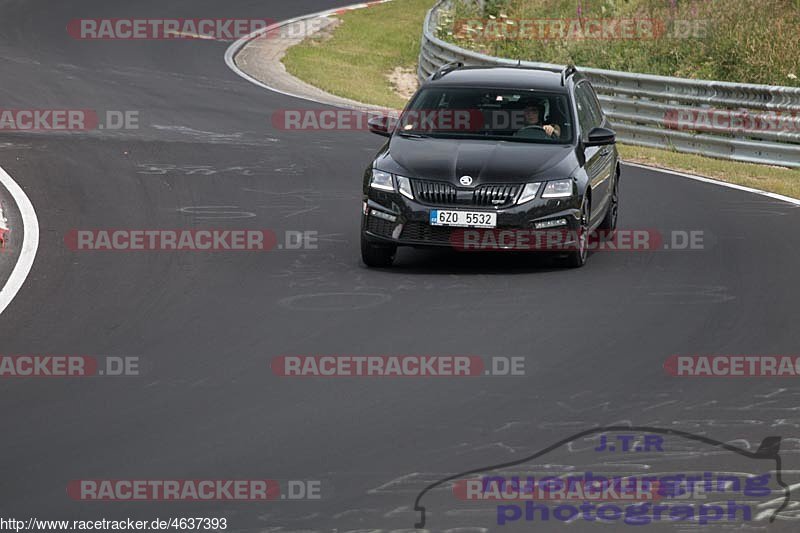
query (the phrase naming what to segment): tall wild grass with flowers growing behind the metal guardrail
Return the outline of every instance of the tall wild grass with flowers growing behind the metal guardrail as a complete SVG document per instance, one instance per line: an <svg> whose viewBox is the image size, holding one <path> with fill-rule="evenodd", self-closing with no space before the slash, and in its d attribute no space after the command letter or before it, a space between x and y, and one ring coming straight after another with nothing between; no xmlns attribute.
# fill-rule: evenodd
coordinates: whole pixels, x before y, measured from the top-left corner
<svg viewBox="0 0 800 533"><path fill-rule="evenodd" d="M600 21L647 29L607 38ZM511 59L800 87L798 26L797 0L486 0L457 2L439 37Z"/></svg>

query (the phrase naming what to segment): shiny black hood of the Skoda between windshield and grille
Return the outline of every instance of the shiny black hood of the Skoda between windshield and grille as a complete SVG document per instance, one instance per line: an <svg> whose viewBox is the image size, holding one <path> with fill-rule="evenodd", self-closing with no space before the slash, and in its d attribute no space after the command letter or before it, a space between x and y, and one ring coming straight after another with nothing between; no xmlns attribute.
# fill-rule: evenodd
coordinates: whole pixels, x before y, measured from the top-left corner
<svg viewBox="0 0 800 533"><path fill-rule="evenodd" d="M385 172L453 184L458 184L462 176L471 176L473 185L480 185L567 178L578 160L575 147L568 144L393 135L378 154L375 166Z"/></svg>

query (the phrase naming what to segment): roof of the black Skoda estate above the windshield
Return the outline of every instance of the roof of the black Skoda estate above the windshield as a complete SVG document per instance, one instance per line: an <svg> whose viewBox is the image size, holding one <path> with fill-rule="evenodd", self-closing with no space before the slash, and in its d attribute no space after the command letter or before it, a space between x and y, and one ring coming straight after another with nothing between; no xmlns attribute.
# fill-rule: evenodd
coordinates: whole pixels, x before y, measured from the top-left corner
<svg viewBox="0 0 800 533"><path fill-rule="evenodd" d="M566 87L561 85L561 72L525 67L461 67L448 71L438 79L428 80L425 85L567 92Z"/></svg>

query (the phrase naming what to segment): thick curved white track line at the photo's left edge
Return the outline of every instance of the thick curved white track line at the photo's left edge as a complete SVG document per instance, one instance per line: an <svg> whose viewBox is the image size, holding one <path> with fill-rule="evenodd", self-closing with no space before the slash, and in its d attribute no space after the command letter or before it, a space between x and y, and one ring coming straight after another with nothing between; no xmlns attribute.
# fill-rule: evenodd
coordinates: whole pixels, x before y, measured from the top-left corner
<svg viewBox="0 0 800 533"><path fill-rule="evenodd" d="M39 249L39 220L36 218L36 211L25 191L2 167L0 167L0 183L11 193L11 197L22 215L23 235L22 249L19 252L17 264L14 265L14 270L11 271L5 286L0 289L0 314L2 314L22 288L22 284L25 283L33 266L36 251Z"/></svg>

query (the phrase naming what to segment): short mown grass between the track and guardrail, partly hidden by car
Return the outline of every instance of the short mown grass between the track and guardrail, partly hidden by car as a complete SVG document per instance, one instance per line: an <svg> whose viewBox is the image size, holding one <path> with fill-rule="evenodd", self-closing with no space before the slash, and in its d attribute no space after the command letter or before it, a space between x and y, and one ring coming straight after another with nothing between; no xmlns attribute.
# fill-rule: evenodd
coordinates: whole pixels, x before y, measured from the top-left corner
<svg viewBox="0 0 800 533"><path fill-rule="evenodd" d="M332 37L289 49L284 64L298 78L338 96L402 108L387 75L416 68L425 13L434 0L395 0L341 15ZM620 145L623 159L800 198L800 170L737 163L668 150Z"/></svg>

